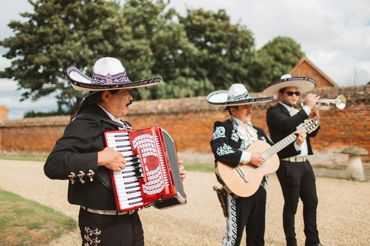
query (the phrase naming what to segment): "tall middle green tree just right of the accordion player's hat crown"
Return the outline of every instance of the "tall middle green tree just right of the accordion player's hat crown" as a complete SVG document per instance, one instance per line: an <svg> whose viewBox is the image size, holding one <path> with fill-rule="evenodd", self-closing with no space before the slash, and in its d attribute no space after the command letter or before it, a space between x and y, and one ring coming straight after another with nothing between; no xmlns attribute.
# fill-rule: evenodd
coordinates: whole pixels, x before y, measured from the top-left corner
<svg viewBox="0 0 370 246"><path fill-rule="evenodd" d="M196 80L189 65L198 62L198 49L189 42L184 25L176 21L177 13L167 3L159 0L129 0L123 7L127 24L132 27L134 38L147 41L151 48L150 66L153 75L162 82L150 87L133 90L134 98L179 98L205 94L213 88L208 79ZM149 61L149 59L148 59ZM134 73L142 79L149 74ZM131 77L130 77L131 79ZM137 94L137 95L136 95Z"/></svg>

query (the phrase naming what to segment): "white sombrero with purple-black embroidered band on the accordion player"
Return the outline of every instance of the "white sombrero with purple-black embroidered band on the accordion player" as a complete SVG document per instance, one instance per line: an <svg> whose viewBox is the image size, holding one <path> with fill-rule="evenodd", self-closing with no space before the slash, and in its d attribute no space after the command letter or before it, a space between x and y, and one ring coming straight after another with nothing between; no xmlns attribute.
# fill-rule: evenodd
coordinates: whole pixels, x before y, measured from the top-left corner
<svg viewBox="0 0 370 246"><path fill-rule="evenodd" d="M132 82L128 79L126 70L120 60L104 57L95 62L92 78L84 75L75 66L67 68L67 78L75 90L100 91L114 89L128 89L158 84L161 77L152 77Z"/></svg>

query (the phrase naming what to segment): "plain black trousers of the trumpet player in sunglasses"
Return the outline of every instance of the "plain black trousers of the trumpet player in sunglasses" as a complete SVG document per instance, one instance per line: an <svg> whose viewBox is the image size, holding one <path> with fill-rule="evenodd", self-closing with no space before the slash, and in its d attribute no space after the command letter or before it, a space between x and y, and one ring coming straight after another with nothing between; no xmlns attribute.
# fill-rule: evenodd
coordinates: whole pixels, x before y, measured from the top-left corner
<svg viewBox="0 0 370 246"><path fill-rule="evenodd" d="M303 202L303 222L305 225L306 245L315 245L319 241L316 228L316 179L308 160L289 162L280 160L276 171L284 196L283 227L287 245L297 245L294 217L299 198Z"/></svg>

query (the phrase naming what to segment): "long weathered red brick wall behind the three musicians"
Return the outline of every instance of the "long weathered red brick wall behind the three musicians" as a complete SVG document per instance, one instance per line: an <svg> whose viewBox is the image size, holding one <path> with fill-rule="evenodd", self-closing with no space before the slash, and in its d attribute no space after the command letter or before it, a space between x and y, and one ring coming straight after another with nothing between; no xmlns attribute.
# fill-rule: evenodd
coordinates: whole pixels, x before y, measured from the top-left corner
<svg viewBox="0 0 370 246"><path fill-rule="evenodd" d="M320 112L321 129L312 138L314 155L309 157L313 166L346 167L348 155L340 152L349 146L370 151L370 85L316 89L313 93L321 98L333 99L340 94L347 98L343 110L334 106L332 110ZM263 94L251 93L251 96L262 97ZM275 104L276 101L253 105L252 123L265 129L268 135L266 110ZM208 104L205 97L137 101L130 106L124 120L136 129L162 127L174 139L179 153L209 156L209 163L212 163L209 141L213 123L229 118L228 112L222 110L223 107ZM69 117L3 121L0 123L0 154L47 156L68 122ZM362 156L362 160L364 168L370 169L370 155Z"/></svg>

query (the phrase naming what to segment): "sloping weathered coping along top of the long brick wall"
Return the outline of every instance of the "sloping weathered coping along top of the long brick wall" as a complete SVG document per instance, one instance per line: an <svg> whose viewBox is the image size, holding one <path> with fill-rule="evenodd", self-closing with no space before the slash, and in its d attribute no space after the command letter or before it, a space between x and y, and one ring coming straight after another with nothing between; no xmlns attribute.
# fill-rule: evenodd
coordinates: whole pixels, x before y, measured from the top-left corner
<svg viewBox="0 0 370 246"><path fill-rule="evenodd" d="M349 87L329 87L315 89L310 93L317 94L320 98L335 99L339 95L344 95L347 99L347 104L370 102L370 85L364 86L349 86ZM263 93L250 93L252 97L266 97ZM305 94L301 96L304 98ZM253 105L254 108L268 108L275 105L277 96L274 100L268 103L258 103ZM128 115L150 115L150 114L183 114L186 112L201 112L201 111L223 111L225 107L213 106L206 101L205 96L190 97L190 98L175 98L175 99L159 99L148 101L134 101L130 106ZM43 125L67 125L70 122L69 116L50 116L36 117L16 120L4 120L0 122L0 127L19 127L23 126L43 126Z"/></svg>

